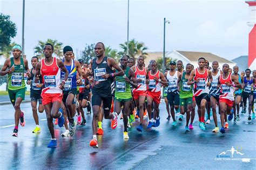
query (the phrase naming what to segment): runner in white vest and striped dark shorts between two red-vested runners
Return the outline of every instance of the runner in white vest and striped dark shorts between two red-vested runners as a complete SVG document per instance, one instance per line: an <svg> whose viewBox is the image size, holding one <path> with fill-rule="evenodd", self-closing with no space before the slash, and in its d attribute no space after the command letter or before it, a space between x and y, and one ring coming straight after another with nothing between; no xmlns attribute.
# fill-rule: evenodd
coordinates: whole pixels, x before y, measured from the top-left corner
<svg viewBox="0 0 256 170"><path fill-rule="evenodd" d="M219 63L217 61L212 62L212 83L210 87L210 99L211 99L211 107L212 107L212 116L215 124L215 128L212 130L213 133L218 133L219 132L219 127L218 127L218 121L217 121L217 112L216 112L216 105L218 104L219 106L219 94L220 94L220 89L217 88L218 86L218 78L220 74L222 74L222 71L218 69ZM220 107L219 108L219 113L220 113ZM210 117L208 117L210 118ZM210 119L206 121L206 124L210 124Z"/></svg>

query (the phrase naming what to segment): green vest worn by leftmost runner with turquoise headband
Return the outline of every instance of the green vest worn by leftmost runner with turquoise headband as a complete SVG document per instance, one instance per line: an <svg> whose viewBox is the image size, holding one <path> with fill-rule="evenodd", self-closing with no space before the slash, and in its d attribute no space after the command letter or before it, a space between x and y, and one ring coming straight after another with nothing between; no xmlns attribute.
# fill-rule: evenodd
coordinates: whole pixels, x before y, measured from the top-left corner
<svg viewBox="0 0 256 170"><path fill-rule="evenodd" d="M10 58L11 65L14 65L15 70L12 73L8 73L8 89L9 90L18 90L23 89L25 85L25 79L24 79L24 72L25 72L25 65L24 65L24 59L21 57L21 64L16 65L14 64L14 57Z"/></svg>

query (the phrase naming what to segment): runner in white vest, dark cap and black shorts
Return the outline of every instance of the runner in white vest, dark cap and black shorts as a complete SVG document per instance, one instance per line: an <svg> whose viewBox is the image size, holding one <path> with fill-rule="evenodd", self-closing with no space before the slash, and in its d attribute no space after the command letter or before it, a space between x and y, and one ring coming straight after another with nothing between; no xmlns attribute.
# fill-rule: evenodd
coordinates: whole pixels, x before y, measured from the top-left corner
<svg viewBox="0 0 256 170"><path fill-rule="evenodd" d="M179 108L179 92L178 92L178 86L177 81L179 78L180 72L175 70L176 62L171 61L170 62L170 71L166 72L164 74L165 78L167 79L169 83L169 90L167 92L167 99L169 101L169 105L171 107L171 115L172 115L172 126L177 125L177 121L175 119L175 110L178 110Z"/></svg>

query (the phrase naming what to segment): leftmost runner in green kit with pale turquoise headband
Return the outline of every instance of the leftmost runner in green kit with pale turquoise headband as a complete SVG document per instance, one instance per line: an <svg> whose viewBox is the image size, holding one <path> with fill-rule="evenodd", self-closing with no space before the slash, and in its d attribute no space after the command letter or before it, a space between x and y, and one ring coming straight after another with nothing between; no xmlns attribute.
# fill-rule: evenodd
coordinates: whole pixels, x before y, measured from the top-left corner
<svg viewBox="0 0 256 170"><path fill-rule="evenodd" d="M15 127L12 133L13 137L18 137L18 124L25 126L24 111L21 111L22 100L25 99L25 79L24 73L30 76L28 60L21 57L22 47L15 45L12 47L12 56L5 60L1 76L8 74L8 94L11 104L15 109Z"/></svg>

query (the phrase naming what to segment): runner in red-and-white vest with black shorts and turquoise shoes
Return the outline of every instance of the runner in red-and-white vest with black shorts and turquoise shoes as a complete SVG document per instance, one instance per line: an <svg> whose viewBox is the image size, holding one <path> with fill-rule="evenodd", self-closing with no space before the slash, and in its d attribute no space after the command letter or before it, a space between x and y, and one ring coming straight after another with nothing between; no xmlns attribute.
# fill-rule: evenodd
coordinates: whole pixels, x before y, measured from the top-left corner
<svg viewBox="0 0 256 170"><path fill-rule="evenodd" d="M201 128L201 130L205 130L205 108L206 102L210 101L208 93L209 86L212 82L212 73L210 70L204 67L205 58L199 58L198 65L199 67L191 72L190 78L188 78L187 81L187 85L192 85L193 83L195 83L194 96L198 107L199 127ZM192 79L194 79L195 81L192 81Z"/></svg>

